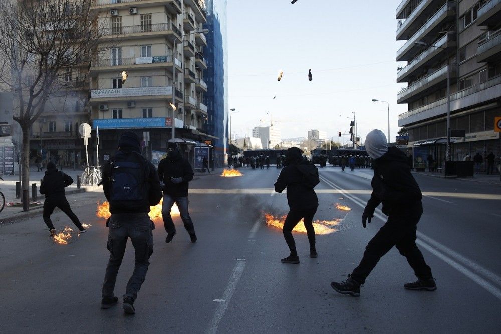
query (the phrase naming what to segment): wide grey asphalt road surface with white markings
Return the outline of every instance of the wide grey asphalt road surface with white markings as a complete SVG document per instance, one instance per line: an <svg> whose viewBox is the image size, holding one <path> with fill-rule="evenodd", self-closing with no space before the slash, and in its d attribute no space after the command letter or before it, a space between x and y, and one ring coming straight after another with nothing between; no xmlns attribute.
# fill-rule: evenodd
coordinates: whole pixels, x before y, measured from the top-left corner
<svg viewBox="0 0 501 334"><path fill-rule="evenodd" d="M376 217L367 229L361 226L372 171L320 170L315 219L341 222L317 235L316 259L308 256L306 234L295 234L299 265L280 262L288 248L280 229L263 218L264 212L287 213L285 194L272 192L279 170L241 171L241 177L209 175L191 183L196 244L179 218L178 234L166 244L162 221L155 220L154 252L134 316L124 315L120 304L100 309L109 256L104 219L95 216L102 194L68 197L92 226L67 245L52 242L41 217L0 227L0 332L501 332L498 184L416 175L427 195L418 245L437 291L405 290L415 277L393 249L354 298L329 283L346 279L383 223ZM56 228L71 226L62 213L54 218ZM129 242L119 297L133 262Z"/></svg>

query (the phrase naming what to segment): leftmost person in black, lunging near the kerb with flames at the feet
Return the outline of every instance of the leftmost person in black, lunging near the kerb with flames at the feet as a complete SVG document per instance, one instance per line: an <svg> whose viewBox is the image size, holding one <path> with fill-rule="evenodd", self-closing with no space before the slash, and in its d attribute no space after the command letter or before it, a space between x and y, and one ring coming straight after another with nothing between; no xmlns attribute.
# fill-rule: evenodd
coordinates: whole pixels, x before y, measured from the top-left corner
<svg viewBox="0 0 501 334"><path fill-rule="evenodd" d="M40 193L45 195L44 202L44 222L49 228L51 236L56 235L56 229L52 224L51 215L55 208L63 211L71 221L77 226L80 233L84 233L86 229L78 220L77 215L71 210L70 203L64 194L64 188L73 183L71 176L56 168L56 164L50 161L47 164L47 171L40 183Z"/></svg>

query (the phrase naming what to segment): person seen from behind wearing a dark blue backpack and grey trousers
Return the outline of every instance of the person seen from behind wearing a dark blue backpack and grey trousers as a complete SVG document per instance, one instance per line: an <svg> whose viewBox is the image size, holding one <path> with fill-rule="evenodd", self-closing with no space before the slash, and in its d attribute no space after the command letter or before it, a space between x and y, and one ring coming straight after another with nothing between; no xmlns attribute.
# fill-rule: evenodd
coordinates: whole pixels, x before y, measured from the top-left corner
<svg viewBox="0 0 501 334"><path fill-rule="evenodd" d="M111 217L108 243L110 259L104 277L101 308L110 308L118 302L114 295L115 282L130 238L135 251L134 272L123 295L123 310L134 314L134 301L148 271L153 253L155 225L148 213L150 206L162 198L160 181L155 166L140 154L139 137L131 131L122 133L118 152L103 166L103 191L110 203Z"/></svg>

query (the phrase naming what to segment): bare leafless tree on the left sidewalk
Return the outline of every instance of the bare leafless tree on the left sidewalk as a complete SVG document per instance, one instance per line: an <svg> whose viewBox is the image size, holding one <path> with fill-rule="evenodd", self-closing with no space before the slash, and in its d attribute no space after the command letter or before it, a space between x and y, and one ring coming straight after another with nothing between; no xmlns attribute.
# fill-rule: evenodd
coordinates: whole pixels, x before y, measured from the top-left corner
<svg viewBox="0 0 501 334"><path fill-rule="evenodd" d="M22 131L23 190L29 190L30 127L51 96L85 83L87 73L73 71L88 62L101 31L90 0L6 0L0 10L0 85L13 94Z"/></svg>

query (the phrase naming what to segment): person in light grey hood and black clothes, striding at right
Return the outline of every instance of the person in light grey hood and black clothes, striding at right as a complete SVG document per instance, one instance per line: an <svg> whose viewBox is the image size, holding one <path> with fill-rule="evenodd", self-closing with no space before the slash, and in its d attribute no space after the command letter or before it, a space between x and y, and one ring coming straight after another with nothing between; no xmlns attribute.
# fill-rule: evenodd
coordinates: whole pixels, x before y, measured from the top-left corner
<svg viewBox="0 0 501 334"><path fill-rule="evenodd" d="M331 282L334 290L352 296L360 295L360 286L379 259L393 246L414 270L418 280L404 284L408 290L436 290L435 280L423 254L416 246L416 226L423 213L421 189L410 173L405 154L396 147L388 148L386 137L381 130L372 130L365 139L365 148L374 159L374 177L372 178L372 194L362 214L362 226L371 222L374 211L380 203L381 211L388 220L369 241L364 256L348 279L344 282Z"/></svg>

